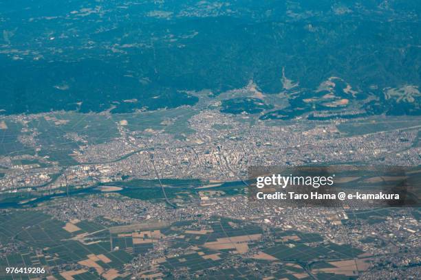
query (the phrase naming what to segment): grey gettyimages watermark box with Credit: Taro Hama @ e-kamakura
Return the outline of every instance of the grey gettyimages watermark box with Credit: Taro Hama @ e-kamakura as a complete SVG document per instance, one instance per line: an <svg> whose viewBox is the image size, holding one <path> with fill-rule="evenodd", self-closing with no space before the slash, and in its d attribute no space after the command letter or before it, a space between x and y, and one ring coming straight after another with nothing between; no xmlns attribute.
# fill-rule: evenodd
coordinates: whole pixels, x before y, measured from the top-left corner
<svg viewBox="0 0 421 280"><path fill-rule="evenodd" d="M252 201L289 207L420 206L420 167L270 166L248 172Z"/></svg>

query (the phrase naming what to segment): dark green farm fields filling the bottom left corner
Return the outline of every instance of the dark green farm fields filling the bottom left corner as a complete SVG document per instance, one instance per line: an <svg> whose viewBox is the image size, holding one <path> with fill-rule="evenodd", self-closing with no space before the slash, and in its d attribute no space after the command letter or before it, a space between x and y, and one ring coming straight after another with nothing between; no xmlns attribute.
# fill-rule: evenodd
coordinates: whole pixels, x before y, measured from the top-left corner
<svg viewBox="0 0 421 280"><path fill-rule="evenodd" d="M51 268L66 264L75 264L87 259L87 255L106 255L111 262L101 263L103 268L121 270L124 264L131 261L133 255L125 250L113 250L109 237L100 238L99 243L83 244L70 240L80 233L91 233L104 229L95 222L81 221L79 231L69 233L63 229L64 222L52 219L40 211L12 211L0 215L0 243L19 242L19 253L12 253L0 260L0 279L8 279L6 267L44 267L45 275L52 275ZM115 246L114 246L115 247ZM56 275L56 274L54 274ZM96 279L95 272L85 272L74 279ZM26 275L14 275L19 279ZM60 277L58 277L60 279Z"/></svg>

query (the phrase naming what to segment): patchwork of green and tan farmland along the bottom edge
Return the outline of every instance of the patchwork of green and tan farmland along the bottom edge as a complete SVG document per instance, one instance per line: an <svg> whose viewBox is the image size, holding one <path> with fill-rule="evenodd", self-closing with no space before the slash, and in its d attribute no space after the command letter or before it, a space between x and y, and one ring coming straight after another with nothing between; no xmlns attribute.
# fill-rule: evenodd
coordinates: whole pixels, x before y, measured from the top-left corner
<svg viewBox="0 0 421 280"><path fill-rule="evenodd" d="M43 276L54 279L127 279L134 271L133 259L142 259L144 272L136 271L151 278L171 278L173 271L188 270L197 275L206 271L209 279L241 275L311 279L309 273L341 279L369 267L361 259L358 268L346 270L347 260L358 259L363 251L325 242L317 233L264 229L219 216L116 227L100 220L62 222L39 210L8 210L1 212L0 225L1 279L35 276L13 278L4 273L6 267L22 266L43 267Z"/></svg>

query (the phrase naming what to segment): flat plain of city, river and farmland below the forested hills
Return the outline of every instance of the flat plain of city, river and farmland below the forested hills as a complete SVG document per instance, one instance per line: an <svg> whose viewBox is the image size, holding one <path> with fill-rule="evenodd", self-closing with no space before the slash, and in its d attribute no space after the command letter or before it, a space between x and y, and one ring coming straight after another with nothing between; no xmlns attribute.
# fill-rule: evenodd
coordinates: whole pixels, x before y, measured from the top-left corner
<svg viewBox="0 0 421 280"><path fill-rule="evenodd" d="M72 114L1 121L34 150L1 157L3 203L17 201L1 211L2 224L16 219L1 231L2 266L42 266L51 279L420 277L419 208L285 207L250 201L244 182L250 166L418 166L416 118L274 126L210 107L174 133L177 117L139 130L141 115L105 113L116 133L90 143L89 128L65 127ZM40 119L77 144L63 159L43 154Z"/></svg>

